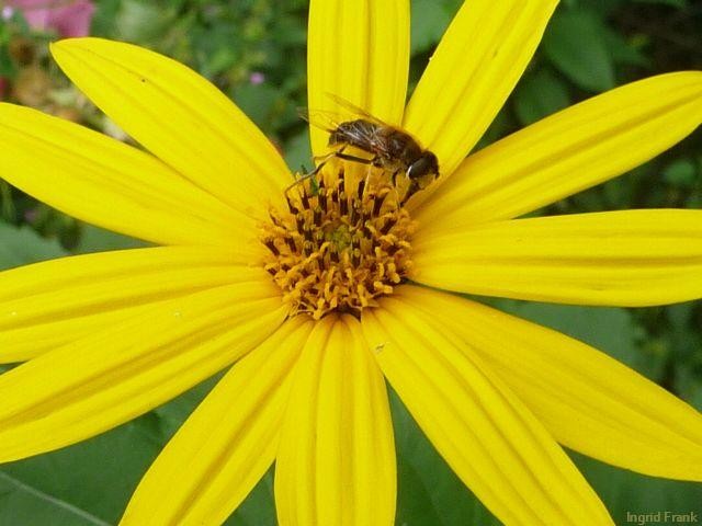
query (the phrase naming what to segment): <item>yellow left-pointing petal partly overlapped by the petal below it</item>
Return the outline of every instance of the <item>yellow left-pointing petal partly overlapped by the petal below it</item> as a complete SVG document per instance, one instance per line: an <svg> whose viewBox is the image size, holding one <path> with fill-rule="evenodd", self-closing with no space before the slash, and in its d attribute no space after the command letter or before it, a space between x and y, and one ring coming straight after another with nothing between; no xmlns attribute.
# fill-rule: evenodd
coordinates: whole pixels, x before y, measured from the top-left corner
<svg viewBox="0 0 702 526"><path fill-rule="evenodd" d="M77 255L0 273L0 363L23 362L154 304L261 278L224 249L165 247Z"/></svg>

